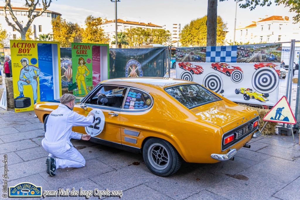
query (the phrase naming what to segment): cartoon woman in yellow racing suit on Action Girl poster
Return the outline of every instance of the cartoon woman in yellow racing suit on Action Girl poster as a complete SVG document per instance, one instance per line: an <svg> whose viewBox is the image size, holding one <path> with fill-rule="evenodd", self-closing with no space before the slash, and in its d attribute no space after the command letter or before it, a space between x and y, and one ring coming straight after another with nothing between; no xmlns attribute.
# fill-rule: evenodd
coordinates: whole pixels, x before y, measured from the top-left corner
<svg viewBox="0 0 300 200"><path fill-rule="evenodd" d="M84 58L80 57L78 58L78 67L77 67L77 72L76 72L76 84L78 87L78 94L81 94L81 84L82 87L85 91L85 94L88 94L88 90L86 89L86 84L85 84L85 76L88 76L90 74L90 70L88 70L88 67L86 67L85 65L85 61ZM85 73L85 71L87 71L87 73Z"/></svg>

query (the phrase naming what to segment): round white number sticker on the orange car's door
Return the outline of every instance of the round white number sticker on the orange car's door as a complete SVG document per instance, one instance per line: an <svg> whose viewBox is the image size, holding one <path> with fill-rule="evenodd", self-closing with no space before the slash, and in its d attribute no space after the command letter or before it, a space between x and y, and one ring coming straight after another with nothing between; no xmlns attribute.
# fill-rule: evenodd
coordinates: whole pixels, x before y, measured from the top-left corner
<svg viewBox="0 0 300 200"><path fill-rule="evenodd" d="M85 132L90 136L97 136L104 128L105 117L100 109L93 109L91 112L95 115L95 121L91 126L85 127Z"/></svg>

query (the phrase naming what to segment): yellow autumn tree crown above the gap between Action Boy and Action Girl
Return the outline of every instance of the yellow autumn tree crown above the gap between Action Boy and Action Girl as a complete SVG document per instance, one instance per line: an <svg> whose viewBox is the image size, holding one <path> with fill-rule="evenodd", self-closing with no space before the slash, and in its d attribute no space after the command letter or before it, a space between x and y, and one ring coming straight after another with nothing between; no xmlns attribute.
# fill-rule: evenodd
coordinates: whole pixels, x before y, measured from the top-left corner
<svg viewBox="0 0 300 200"><path fill-rule="evenodd" d="M52 19L53 40L60 42L61 47L71 47L72 42L82 41L82 28L77 23L66 22L60 16Z"/></svg>

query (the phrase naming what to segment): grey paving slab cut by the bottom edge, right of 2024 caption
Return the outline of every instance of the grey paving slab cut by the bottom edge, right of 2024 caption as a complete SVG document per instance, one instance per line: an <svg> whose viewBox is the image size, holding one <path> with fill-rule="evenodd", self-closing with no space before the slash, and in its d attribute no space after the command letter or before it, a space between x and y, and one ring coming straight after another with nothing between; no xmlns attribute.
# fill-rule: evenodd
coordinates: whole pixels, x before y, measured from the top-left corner
<svg viewBox="0 0 300 200"><path fill-rule="evenodd" d="M145 195L146 192L146 195ZM122 192L122 200L132 200L132 199L149 199L149 200L171 200L170 197L153 190L150 187L147 187L146 185L142 184L137 187L131 188L129 190L126 190ZM119 197L109 197L107 200L111 199L119 199Z"/></svg>

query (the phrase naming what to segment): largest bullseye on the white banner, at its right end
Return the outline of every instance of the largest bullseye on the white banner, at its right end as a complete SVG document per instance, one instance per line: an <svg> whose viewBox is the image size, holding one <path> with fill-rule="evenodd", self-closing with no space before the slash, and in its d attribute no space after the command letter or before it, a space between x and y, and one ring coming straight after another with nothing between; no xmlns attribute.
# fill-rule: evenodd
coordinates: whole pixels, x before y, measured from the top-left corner
<svg viewBox="0 0 300 200"><path fill-rule="evenodd" d="M278 74L270 67L261 67L253 73L252 86L258 92L270 93L277 88L278 84Z"/></svg>

